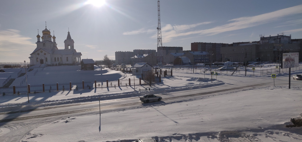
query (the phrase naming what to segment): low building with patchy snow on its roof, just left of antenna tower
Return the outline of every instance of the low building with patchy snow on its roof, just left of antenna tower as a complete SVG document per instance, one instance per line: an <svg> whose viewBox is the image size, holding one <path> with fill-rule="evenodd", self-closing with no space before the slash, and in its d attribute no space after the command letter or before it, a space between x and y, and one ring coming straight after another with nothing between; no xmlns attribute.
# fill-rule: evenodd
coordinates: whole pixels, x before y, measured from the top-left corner
<svg viewBox="0 0 302 142"><path fill-rule="evenodd" d="M131 57L130 60L131 65L134 65L136 63L148 63L151 66L154 66L156 65L157 58L152 54L138 54Z"/></svg>

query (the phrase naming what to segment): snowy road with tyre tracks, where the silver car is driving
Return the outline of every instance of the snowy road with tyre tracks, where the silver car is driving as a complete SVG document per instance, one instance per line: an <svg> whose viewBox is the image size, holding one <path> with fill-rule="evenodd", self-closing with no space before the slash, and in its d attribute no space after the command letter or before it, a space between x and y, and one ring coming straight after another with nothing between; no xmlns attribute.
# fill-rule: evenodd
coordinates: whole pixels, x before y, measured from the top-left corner
<svg viewBox="0 0 302 142"><path fill-rule="evenodd" d="M183 75L174 73L175 76ZM195 74L186 74L187 77L196 77ZM203 75L202 75L203 76ZM210 78L210 76L206 76ZM0 113L0 141L20 141L24 135L41 125L74 116L90 115L97 113L108 113L111 111L124 110L129 108L141 108L158 103L173 103L180 100L198 99L201 97L215 96L273 86L273 79L269 77L240 77L240 76L219 76L220 83L216 85L194 86L190 88L173 89L166 92L154 92L163 97L160 102L142 103L138 97L128 97L113 100L101 100L99 102L83 102L64 104L48 107L34 107L27 110L12 110L11 112ZM236 84L234 83L236 80ZM275 85L288 85L288 77L283 76L275 79ZM301 81L291 80L291 85L301 85ZM190 91L188 91L190 90ZM12 107L14 108L14 107Z"/></svg>

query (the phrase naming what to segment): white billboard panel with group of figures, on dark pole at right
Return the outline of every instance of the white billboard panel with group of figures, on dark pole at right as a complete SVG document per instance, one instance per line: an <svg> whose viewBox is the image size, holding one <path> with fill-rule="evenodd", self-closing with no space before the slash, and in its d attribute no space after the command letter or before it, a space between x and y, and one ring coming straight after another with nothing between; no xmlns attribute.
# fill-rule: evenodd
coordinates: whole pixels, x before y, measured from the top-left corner
<svg viewBox="0 0 302 142"><path fill-rule="evenodd" d="M299 53L283 53L282 69L299 66Z"/></svg>

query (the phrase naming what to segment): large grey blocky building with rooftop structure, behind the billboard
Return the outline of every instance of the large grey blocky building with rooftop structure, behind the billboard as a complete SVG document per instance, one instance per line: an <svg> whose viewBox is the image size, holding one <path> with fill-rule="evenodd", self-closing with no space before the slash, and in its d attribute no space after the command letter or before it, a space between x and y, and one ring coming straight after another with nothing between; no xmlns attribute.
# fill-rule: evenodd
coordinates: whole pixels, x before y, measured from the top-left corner
<svg viewBox="0 0 302 142"><path fill-rule="evenodd" d="M291 36L260 37L259 42L241 43L221 48L223 58L232 62L278 62L282 53L301 52L301 43L292 42Z"/></svg>

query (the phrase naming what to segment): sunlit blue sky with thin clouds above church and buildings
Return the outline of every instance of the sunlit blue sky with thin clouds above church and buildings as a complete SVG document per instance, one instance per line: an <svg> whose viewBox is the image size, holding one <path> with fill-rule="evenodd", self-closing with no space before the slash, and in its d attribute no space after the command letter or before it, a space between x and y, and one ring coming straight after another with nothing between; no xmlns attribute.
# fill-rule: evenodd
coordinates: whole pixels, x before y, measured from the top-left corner
<svg viewBox="0 0 302 142"><path fill-rule="evenodd" d="M0 1L0 62L29 62L37 34L56 36L59 49L69 32L82 59L102 60L115 51L157 48L157 0ZM252 42L284 32L302 39L301 0L161 0L162 45L191 50L192 42Z"/></svg>

